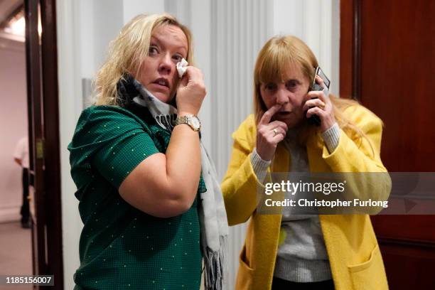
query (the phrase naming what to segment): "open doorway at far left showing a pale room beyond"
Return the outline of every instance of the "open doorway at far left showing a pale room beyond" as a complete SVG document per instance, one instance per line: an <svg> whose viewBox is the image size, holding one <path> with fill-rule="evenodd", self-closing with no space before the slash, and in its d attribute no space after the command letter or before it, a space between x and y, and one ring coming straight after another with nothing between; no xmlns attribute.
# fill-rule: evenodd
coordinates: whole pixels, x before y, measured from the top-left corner
<svg viewBox="0 0 435 290"><path fill-rule="evenodd" d="M24 39L23 1L0 2L0 274L33 271Z"/></svg>

